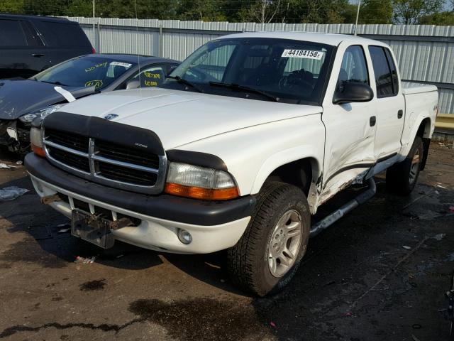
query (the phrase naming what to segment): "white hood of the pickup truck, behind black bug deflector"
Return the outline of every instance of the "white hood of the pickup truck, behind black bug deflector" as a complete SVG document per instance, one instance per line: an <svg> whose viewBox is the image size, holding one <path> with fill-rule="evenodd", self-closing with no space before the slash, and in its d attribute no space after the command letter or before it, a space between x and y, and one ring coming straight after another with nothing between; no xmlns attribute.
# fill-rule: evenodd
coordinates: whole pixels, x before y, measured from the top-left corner
<svg viewBox="0 0 454 341"><path fill-rule="evenodd" d="M62 111L154 131L165 149L228 131L322 112L318 106L276 103L160 88L96 94ZM114 118L111 118L114 117ZM263 136L266 139L266 136Z"/></svg>

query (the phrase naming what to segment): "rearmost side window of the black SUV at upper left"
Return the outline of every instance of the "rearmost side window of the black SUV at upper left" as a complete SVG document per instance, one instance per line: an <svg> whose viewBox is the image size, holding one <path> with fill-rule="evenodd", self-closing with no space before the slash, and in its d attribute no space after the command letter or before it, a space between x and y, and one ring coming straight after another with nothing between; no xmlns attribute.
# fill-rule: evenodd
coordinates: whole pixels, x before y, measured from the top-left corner
<svg viewBox="0 0 454 341"><path fill-rule="evenodd" d="M43 21L44 38L49 46L86 47L87 36L84 31L72 23Z"/></svg>

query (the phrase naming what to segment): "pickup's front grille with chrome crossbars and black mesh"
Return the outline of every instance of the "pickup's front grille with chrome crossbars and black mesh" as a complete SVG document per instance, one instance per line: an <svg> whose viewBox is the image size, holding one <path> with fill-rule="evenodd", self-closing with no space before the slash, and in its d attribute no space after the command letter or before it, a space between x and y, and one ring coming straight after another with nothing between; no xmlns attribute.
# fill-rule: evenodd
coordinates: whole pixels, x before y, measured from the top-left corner
<svg viewBox="0 0 454 341"><path fill-rule="evenodd" d="M165 156L56 129L43 129L43 145L55 166L96 183L148 194L164 187Z"/></svg>

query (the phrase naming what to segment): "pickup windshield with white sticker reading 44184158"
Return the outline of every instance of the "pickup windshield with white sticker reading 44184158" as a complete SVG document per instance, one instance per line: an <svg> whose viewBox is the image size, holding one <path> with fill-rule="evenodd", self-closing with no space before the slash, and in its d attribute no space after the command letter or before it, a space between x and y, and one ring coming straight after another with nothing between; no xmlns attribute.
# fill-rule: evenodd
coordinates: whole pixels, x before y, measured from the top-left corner
<svg viewBox="0 0 454 341"><path fill-rule="evenodd" d="M320 104L332 50L330 45L301 40L212 40L189 55L161 87Z"/></svg>

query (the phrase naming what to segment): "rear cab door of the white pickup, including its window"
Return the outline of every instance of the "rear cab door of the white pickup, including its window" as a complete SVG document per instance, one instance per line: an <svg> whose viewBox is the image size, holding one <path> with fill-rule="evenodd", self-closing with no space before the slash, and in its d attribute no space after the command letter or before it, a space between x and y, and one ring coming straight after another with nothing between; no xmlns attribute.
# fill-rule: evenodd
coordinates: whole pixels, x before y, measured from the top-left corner
<svg viewBox="0 0 454 341"><path fill-rule="evenodd" d="M369 46L375 78L374 99L377 134L375 135L375 159L383 161L394 156L402 147L401 136L405 121L405 101L399 89L394 58L388 48Z"/></svg>

